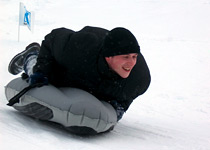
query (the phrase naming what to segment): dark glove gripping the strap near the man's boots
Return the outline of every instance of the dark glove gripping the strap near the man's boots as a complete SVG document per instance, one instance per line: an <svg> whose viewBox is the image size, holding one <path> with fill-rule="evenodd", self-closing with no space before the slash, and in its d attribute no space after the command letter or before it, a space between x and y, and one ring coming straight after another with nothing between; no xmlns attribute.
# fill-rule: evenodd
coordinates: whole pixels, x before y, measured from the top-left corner
<svg viewBox="0 0 210 150"><path fill-rule="evenodd" d="M41 72L35 72L29 77L29 84L34 85L40 83L42 85L48 84L48 78Z"/></svg>

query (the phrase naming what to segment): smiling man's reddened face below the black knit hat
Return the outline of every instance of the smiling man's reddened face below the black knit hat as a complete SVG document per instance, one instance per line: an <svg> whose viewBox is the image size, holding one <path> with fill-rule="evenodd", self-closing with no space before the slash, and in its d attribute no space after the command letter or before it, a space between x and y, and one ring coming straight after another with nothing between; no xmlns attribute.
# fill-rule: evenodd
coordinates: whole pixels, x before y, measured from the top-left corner
<svg viewBox="0 0 210 150"><path fill-rule="evenodd" d="M131 53L126 55L117 55L105 57L109 67L114 70L122 78L127 78L136 65L138 54Z"/></svg>

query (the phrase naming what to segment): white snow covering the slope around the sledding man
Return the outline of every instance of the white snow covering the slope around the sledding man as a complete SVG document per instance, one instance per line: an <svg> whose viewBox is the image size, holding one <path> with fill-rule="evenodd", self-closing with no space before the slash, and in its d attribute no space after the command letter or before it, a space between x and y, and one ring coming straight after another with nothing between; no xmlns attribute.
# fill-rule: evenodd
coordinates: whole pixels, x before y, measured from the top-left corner
<svg viewBox="0 0 210 150"><path fill-rule="evenodd" d="M22 0L35 30L21 27L18 0L0 0L0 149L210 150L210 0ZM52 29L122 26L137 37L151 70L149 90L115 129L80 137L6 106L7 66Z"/></svg>

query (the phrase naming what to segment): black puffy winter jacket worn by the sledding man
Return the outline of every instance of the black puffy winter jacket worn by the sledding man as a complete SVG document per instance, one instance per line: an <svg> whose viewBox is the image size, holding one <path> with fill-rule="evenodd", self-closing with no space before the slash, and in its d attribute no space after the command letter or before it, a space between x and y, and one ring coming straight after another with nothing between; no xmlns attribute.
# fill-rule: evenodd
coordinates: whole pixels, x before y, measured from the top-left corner
<svg viewBox="0 0 210 150"><path fill-rule="evenodd" d="M42 72L56 87L83 89L99 100L116 100L125 110L150 84L150 72L142 54L126 79L109 69L101 55L108 30L86 26L75 32L54 29L43 40L34 72Z"/></svg>

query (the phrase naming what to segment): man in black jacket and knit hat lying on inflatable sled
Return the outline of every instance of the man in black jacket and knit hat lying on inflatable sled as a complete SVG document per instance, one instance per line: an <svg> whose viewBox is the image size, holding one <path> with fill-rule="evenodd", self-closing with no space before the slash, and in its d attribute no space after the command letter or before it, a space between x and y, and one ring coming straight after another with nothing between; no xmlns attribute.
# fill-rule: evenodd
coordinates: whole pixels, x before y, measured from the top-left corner
<svg viewBox="0 0 210 150"><path fill-rule="evenodd" d="M118 121L150 84L135 36L121 27L54 29L41 46L32 43L17 54L8 69L14 75L24 70L29 85L82 89L111 104Z"/></svg>

